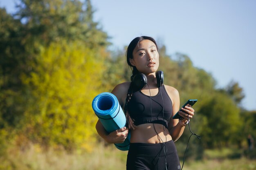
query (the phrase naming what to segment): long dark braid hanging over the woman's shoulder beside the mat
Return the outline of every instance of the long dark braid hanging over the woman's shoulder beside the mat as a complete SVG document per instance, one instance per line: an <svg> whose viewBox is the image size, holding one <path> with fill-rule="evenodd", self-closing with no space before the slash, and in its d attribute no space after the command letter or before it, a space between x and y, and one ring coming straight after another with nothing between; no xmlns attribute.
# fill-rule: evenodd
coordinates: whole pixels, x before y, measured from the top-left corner
<svg viewBox="0 0 256 170"><path fill-rule="evenodd" d="M135 66L133 66L131 77L134 77L137 73L139 73L139 71L137 70L137 68ZM129 86L128 92L127 92L127 96L126 96L126 103L124 105L124 113L126 115L128 129L134 130L136 128L136 126L134 124L134 120L130 117L130 114L128 113L128 104L130 102L130 99L132 98L132 94L133 94L133 88L132 88L132 83L131 83Z"/></svg>

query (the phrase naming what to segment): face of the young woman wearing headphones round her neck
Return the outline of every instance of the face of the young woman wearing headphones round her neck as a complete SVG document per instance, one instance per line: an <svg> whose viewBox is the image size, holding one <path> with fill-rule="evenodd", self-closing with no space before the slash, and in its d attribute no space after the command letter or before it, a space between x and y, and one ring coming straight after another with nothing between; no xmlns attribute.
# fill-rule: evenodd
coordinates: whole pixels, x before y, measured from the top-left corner
<svg viewBox="0 0 256 170"><path fill-rule="evenodd" d="M141 40L133 50L133 59L129 59L132 66L146 75L157 71L159 66L159 54L154 42Z"/></svg>

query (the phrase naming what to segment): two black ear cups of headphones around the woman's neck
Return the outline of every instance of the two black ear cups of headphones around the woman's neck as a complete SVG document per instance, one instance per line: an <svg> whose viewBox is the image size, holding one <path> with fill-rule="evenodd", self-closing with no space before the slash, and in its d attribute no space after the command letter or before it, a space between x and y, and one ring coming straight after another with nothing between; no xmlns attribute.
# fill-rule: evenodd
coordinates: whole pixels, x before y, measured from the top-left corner
<svg viewBox="0 0 256 170"><path fill-rule="evenodd" d="M155 73L155 76L157 78L157 87L160 87L164 84L164 72L157 71ZM143 73L138 73L135 76L131 77L132 81L132 88L134 91L139 91L142 88L144 88L148 82L146 75Z"/></svg>

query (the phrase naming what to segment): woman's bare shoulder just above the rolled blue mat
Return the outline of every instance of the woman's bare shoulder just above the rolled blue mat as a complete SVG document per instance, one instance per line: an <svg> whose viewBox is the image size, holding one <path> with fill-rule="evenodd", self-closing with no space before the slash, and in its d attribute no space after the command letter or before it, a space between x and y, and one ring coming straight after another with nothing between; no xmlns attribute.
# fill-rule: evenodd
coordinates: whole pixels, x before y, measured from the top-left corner
<svg viewBox="0 0 256 170"><path fill-rule="evenodd" d="M130 82L124 82L121 84L117 84L117 86L115 86L115 88L111 92L112 94L114 94L117 97L119 104L121 106L123 106L125 103L126 95L127 95L129 87L130 87Z"/></svg>

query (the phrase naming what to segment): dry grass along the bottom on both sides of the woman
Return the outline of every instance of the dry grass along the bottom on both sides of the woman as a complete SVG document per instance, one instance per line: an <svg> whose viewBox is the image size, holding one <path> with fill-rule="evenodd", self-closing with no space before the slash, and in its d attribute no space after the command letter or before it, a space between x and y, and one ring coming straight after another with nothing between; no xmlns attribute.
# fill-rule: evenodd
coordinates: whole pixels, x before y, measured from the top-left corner
<svg viewBox="0 0 256 170"><path fill-rule="evenodd" d="M126 156L127 151L103 144L92 152L72 154L63 149L43 151L37 145L9 147L0 155L0 170L125 170ZM238 149L206 150L202 160L186 160L183 170L256 170L256 161Z"/></svg>

